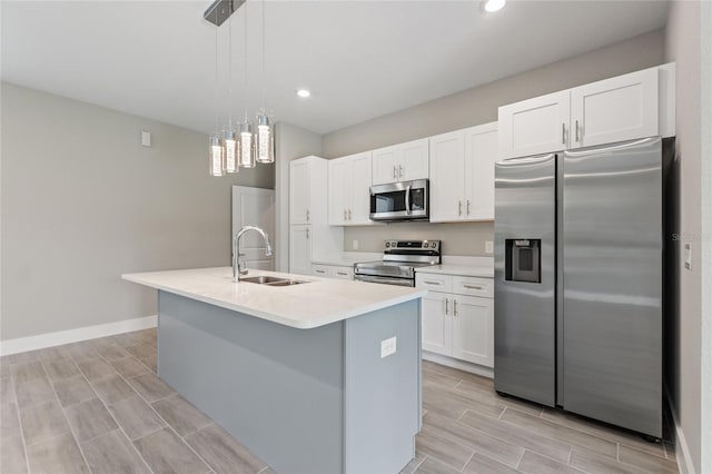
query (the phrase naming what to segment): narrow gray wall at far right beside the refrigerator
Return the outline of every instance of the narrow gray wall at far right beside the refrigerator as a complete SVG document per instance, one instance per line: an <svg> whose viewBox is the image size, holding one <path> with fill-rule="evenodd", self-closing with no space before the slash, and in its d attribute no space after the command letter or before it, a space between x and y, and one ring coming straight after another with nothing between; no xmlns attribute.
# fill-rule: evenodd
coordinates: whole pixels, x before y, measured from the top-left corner
<svg viewBox="0 0 712 474"><path fill-rule="evenodd" d="M678 215L669 238L676 266L669 312L671 355L668 385L690 450L693 468L701 472L701 4L674 1L666 27L665 59L676 61L676 150L673 187ZM709 87L709 85L706 86ZM709 206L709 203L708 203ZM683 266L684 245L692 246L692 268ZM680 453L680 452L679 452ZM682 453L680 453L682 454ZM681 456L682 458L682 456ZM681 468L684 465L681 463Z"/></svg>

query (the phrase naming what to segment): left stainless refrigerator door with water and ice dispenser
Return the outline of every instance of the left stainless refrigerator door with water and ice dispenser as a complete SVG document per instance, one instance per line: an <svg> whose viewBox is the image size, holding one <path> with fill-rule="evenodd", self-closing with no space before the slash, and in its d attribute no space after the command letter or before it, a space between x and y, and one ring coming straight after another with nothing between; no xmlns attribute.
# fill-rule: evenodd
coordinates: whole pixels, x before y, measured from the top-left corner
<svg viewBox="0 0 712 474"><path fill-rule="evenodd" d="M495 389L555 403L556 156L495 165Z"/></svg>

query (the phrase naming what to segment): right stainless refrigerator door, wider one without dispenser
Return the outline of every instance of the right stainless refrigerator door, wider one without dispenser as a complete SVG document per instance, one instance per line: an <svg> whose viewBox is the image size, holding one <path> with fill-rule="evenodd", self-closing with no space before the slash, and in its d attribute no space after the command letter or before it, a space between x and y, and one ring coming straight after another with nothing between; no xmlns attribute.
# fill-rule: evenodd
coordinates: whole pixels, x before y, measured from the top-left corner
<svg viewBox="0 0 712 474"><path fill-rule="evenodd" d="M661 146L649 138L563 158L563 406L657 437Z"/></svg>

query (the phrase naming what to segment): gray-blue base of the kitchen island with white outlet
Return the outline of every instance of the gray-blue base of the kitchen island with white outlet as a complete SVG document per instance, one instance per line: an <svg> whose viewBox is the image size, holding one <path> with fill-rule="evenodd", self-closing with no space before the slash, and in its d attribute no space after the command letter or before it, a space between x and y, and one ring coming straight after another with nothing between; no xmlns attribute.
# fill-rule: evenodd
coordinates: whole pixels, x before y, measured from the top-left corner
<svg viewBox="0 0 712 474"><path fill-rule="evenodd" d="M419 298L310 329L158 298L159 376L276 472L395 474L414 457Z"/></svg>

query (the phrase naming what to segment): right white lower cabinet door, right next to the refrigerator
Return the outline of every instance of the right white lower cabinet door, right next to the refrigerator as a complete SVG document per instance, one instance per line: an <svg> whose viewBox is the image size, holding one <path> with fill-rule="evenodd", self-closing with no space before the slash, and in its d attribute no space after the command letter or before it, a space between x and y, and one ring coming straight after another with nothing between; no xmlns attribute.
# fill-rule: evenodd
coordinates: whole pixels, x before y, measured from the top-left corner
<svg viewBox="0 0 712 474"><path fill-rule="evenodd" d="M493 367L494 299L453 298L453 357Z"/></svg>

